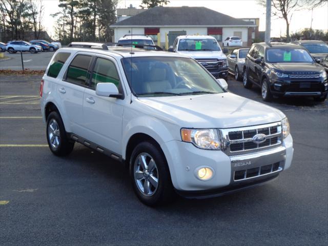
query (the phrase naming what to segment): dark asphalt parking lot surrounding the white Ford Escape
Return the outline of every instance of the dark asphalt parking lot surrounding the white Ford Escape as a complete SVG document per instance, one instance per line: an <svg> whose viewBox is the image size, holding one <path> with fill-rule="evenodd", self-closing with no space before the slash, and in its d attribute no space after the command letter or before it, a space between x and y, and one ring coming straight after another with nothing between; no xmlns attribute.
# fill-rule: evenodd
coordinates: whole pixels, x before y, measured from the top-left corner
<svg viewBox="0 0 328 246"><path fill-rule="evenodd" d="M0 77L2 245L327 245L327 100L268 103L289 117L294 138L292 166L278 179L149 208L111 158L79 144L69 157L52 155L38 105L40 79ZM259 89L232 78L228 84L262 101Z"/></svg>

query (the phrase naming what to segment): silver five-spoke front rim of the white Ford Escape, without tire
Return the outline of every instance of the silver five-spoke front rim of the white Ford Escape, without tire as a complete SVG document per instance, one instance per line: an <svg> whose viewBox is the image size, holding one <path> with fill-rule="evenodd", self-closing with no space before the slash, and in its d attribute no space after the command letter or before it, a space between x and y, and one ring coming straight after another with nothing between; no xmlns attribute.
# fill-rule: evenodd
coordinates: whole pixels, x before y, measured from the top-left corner
<svg viewBox="0 0 328 246"><path fill-rule="evenodd" d="M134 181L145 196L152 196L158 188L158 170L153 157L141 153L134 161Z"/></svg>

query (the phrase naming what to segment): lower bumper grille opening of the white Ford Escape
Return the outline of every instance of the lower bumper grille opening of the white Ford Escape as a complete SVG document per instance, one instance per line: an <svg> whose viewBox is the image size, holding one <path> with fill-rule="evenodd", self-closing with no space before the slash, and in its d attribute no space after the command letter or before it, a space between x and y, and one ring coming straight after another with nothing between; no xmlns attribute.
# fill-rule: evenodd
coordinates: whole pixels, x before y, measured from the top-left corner
<svg viewBox="0 0 328 246"><path fill-rule="evenodd" d="M259 176L267 175L267 174L274 173L277 171L281 171L282 168L279 167L279 165L280 165L280 162L276 162L276 163L273 163L270 165L260 166L257 168L235 171L234 181L241 181L241 180L259 177Z"/></svg>

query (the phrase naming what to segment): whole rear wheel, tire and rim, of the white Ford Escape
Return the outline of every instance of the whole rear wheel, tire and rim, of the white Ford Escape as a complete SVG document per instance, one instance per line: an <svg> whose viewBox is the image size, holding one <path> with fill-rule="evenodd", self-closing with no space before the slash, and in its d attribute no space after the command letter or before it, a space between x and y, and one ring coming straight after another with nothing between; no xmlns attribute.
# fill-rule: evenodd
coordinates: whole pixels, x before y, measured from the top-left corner
<svg viewBox="0 0 328 246"><path fill-rule="evenodd" d="M63 120L60 115L53 111L47 119L47 141L52 153L65 156L72 152L74 142L68 139Z"/></svg>

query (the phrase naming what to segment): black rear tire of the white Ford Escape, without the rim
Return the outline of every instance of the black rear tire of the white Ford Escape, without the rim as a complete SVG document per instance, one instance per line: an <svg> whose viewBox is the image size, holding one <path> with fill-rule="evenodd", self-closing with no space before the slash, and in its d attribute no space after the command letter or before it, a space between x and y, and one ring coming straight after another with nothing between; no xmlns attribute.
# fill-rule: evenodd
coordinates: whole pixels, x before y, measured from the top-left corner
<svg viewBox="0 0 328 246"><path fill-rule="evenodd" d="M49 130L51 131L51 128L49 127L49 125L53 121L56 122L56 124L58 126L58 130L59 130L59 134L58 135L55 134L56 136L59 137L59 140L58 140L59 143L58 143L57 147L54 147L51 144L51 139L49 139L50 138ZM74 141L70 140L67 137L63 120L61 120L59 113L56 111L51 112L47 118L47 141L48 141L48 145L49 145L51 152L57 156L66 156L66 155L70 154L74 148Z"/></svg>

